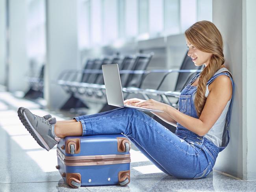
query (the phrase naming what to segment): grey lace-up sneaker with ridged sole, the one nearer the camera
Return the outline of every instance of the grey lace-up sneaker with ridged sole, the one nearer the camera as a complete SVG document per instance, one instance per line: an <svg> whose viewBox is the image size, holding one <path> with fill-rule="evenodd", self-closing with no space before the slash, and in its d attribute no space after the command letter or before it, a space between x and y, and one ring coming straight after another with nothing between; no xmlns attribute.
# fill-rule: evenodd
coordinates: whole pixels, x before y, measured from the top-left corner
<svg viewBox="0 0 256 192"><path fill-rule="evenodd" d="M52 124L56 123L55 118L51 118L55 120L49 122L44 117L34 115L28 109L22 109L22 107L18 109L18 116L22 124L41 147L49 151L58 143L54 139L54 135L52 135Z"/></svg>

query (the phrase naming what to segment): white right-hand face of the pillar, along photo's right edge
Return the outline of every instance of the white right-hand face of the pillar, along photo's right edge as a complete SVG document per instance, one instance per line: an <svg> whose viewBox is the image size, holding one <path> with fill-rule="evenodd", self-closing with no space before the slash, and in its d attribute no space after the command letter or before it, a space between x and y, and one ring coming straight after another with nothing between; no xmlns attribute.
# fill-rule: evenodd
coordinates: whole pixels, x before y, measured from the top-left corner
<svg viewBox="0 0 256 192"><path fill-rule="evenodd" d="M246 4L246 5L244 5ZM256 24L255 24L255 18L256 18L256 1L255 0L247 0L243 2L243 7L245 7L244 10L246 10L246 13L243 14L243 23L246 23L246 26L243 27L243 34L246 36L244 37L245 44L243 46L243 57L245 57L246 63L243 62L243 65L245 65L245 78L246 78L246 105L245 110L245 121L247 122L246 128L247 128L247 138L244 142L247 144L245 146L245 150L247 152L247 163L245 163L245 166L247 168L246 172L244 171L244 177L245 179L256 179L256 153L255 153L255 147L256 147L256 129L255 129L255 116L256 116L256 85L255 85L255 74L256 74ZM243 40L244 40L243 39ZM246 149L247 147L247 149ZM246 154L246 153L245 153Z"/></svg>

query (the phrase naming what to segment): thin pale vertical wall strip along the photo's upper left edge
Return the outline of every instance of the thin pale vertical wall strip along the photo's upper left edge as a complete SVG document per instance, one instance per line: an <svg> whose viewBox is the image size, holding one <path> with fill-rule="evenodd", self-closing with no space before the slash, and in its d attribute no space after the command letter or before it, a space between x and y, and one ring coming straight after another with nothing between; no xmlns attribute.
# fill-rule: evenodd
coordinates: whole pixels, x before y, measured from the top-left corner
<svg viewBox="0 0 256 192"><path fill-rule="evenodd" d="M6 0L0 0L0 84L4 85L6 66Z"/></svg>

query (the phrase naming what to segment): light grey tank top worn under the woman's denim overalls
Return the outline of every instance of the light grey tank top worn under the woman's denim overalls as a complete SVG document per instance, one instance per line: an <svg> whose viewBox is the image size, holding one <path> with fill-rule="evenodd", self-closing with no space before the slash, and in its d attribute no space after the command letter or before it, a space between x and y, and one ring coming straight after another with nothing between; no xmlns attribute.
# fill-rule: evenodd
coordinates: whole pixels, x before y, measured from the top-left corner
<svg viewBox="0 0 256 192"><path fill-rule="evenodd" d="M227 68L220 68L215 74L221 73L227 71L230 73L230 71ZM214 75L215 75L214 74ZM231 73L230 73L231 74ZM191 83L192 84L192 83ZM208 84L210 85L210 84ZM206 92L205 92L205 97L207 98L209 95L209 89L208 85L206 86ZM193 100L195 101L195 94L193 97ZM225 126L225 121L226 121L226 114L228 113L228 107L230 105L231 99L228 101L226 104L226 107L221 113L221 116L219 116L218 120L215 122L215 124L211 127L211 129L204 135L205 138L208 138L211 142L213 142L217 147L221 146L222 142L222 135L224 131L224 126Z"/></svg>

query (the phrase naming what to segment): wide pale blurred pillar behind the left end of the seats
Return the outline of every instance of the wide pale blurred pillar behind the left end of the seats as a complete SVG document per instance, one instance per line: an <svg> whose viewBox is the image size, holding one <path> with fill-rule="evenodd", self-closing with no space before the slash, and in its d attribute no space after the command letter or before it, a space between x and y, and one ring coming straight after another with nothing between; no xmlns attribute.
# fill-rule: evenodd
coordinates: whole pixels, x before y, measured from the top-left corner
<svg viewBox="0 0 256 192"><path fill-rule="evenodd" d="M58 109L69 98L56 80L61 71L78 67L77 1L46 0L45 99Z"/></svg>

